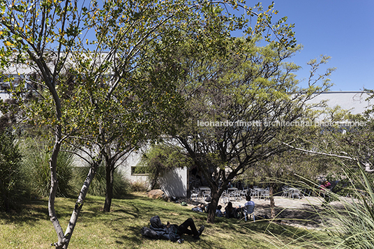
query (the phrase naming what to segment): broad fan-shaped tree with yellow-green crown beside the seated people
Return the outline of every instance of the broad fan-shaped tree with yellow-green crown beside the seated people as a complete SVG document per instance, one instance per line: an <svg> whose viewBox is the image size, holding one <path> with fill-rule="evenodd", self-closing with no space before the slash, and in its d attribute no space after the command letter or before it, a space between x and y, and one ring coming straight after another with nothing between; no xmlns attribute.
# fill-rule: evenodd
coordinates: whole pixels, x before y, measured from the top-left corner
<svg viewBox="0 0 374 249"><path fill-rule="evenodd" d="M214 77L204 84L195 80L198 87L184 110L186 126L174 139L211 188L207 222L214 222L218 199L230 181L287 150L280 137L292 137L297 122L307 117L306 101L329 87L329 80L317 86L312 79L306 89L297 86L293 72L298 67L285 62L297 50L299 47L278 43L257 47L246 40L230 40L225 44L225 56L209 69L216 73ZM329 73L331 70L322 80Z"/></svg>

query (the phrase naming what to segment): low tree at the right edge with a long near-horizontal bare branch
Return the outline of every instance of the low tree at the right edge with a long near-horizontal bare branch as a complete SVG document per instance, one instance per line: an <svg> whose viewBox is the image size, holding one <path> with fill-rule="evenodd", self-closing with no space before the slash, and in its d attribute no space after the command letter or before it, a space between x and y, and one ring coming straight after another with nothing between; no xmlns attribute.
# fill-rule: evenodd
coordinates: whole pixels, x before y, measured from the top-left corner
<svg viewBox="0 0 374 249"><path fill-rule="evenodd" d="M308 137L299 134L283 144L303 153L353 162L353 167L361 165L365 172L373 173L373 119L368 113L351 114L336 106L327 107L322 118L318 133Z"/></svg>

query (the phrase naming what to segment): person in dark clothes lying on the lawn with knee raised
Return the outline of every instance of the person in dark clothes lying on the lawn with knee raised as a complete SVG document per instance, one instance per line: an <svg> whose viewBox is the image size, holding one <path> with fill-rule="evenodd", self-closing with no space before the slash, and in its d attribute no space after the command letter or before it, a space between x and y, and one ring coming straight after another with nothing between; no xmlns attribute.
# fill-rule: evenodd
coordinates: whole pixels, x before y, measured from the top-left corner
<svg viewBox="0 0 374 249"><path fill-rule="evenodd" d="M152 239L167 239L172 242L178 241L182 243L182 234L193 235L194 239L199 239L202 231L204 231L204 225L197 231L192 218L188 218L181 225L171 225L170 222L167 222L167 225L163 225L159 216L152 217L150 222L149 228L142 228L142 235Z"/></svg>

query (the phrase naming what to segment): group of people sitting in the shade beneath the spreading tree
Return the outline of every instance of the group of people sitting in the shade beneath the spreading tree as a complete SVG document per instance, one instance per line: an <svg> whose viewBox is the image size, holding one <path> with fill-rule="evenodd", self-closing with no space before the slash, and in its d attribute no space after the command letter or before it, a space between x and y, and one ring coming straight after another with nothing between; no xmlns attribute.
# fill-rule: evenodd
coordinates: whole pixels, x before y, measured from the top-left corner
<svg viewBox="0 0 374 249"><path fill-rule="evenodd" d="M250 200L250 195L246 195L246 205L255 206L255 202ZM210 204L198 204L197 206L193 207L192 211L196 212L208 212ZM222 206L218 205L216 209L216 216L217 217L225 217L225 218L240 218L241 214L244 212L244 206L232 206L232 202L228 202L227 206L225 206L225 211L222 211Z"/></svg>

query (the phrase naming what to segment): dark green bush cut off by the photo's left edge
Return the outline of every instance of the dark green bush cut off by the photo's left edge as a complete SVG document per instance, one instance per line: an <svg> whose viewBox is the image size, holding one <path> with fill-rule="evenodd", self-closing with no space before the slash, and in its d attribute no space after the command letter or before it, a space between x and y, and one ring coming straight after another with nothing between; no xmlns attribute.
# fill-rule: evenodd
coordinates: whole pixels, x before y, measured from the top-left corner
<svg viewBox="0 0 374 249"><path fill-rule="evenodd" d="M0 209L10 211L17 209L19 201L27 197L24 186L20 149L10 133L0 133Z"/></svg>

